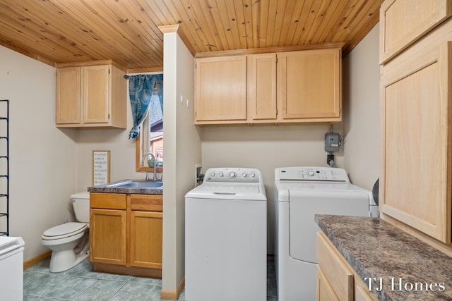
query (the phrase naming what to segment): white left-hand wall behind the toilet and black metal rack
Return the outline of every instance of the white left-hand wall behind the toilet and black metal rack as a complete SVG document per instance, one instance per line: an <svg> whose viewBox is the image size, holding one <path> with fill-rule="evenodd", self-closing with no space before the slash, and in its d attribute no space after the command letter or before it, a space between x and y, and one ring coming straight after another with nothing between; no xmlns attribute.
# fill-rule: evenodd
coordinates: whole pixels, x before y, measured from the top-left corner
<svg viewBox="0 0 452 301"><path fill-rule="evenodd" d="M48 250L47 228L73 220L77 132L55 128L55 76L54 67L0 47L0 99L10 99L11 114L10 235L25 240L25 260Z"/></svg>

